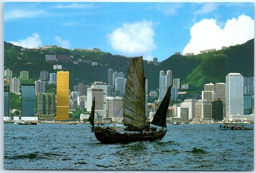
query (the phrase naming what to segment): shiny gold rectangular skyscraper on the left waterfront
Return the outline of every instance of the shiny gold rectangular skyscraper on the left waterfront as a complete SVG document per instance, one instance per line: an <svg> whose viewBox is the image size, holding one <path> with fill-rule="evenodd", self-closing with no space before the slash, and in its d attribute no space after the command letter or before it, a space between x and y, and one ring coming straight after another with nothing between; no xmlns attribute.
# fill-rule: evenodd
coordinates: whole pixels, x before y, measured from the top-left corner
<svg viewBox="0 0 256 173"><path fill-rule="evenodd" d="M57 72L56 120L68 120L69 107L69 72Z"/></svg>

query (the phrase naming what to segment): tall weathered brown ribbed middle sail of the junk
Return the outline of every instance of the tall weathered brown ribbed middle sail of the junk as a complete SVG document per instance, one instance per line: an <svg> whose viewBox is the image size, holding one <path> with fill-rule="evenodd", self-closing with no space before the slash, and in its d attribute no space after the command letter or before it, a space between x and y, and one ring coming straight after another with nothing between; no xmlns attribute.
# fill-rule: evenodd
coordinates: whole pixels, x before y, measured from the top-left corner
<svg viewBox="0 0 256 173"><path fill-rule="evenodd" d="M145 127L145 76L142 56L133 58L128 70L124 94L124 125Z"/></svg>

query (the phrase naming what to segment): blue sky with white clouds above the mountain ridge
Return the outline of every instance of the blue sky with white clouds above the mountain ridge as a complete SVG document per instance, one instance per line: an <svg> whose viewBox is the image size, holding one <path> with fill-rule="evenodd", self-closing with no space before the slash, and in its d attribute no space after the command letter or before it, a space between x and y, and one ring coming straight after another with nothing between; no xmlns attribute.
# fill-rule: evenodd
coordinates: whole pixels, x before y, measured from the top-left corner
<svg viewBox="0 0 256 173"><path fill-rule="evenodd" d="M252 38L253 1L4 3L4 41L28 48L99 48L163 61Z"/></svg>

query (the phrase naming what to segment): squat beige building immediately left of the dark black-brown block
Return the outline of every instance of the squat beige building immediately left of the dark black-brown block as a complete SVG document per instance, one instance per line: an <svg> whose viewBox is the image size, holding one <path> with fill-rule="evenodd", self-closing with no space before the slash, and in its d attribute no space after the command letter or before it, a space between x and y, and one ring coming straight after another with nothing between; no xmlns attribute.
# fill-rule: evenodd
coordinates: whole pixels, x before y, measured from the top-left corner
<svg viewBox="0 0 256 173"><path fill-rule="evenodd" d="M205 121L212 119L212 102L207 100L198 100L196 102L196 121Z"/></svg>

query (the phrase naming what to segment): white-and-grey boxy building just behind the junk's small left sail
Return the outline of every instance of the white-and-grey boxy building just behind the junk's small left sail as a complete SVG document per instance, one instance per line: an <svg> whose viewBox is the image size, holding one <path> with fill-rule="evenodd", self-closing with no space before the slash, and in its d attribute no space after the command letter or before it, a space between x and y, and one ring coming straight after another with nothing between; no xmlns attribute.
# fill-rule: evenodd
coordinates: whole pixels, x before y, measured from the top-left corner
<svg viewBox="0 0 256 173"><path fill-rule="evenodd" d="M91 113L92 100L95 97L95 114L103 112L103 89L102 88L88 88L87 89L87 112Z"/></svg>

